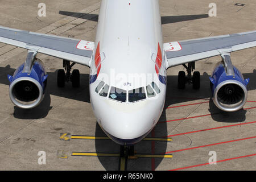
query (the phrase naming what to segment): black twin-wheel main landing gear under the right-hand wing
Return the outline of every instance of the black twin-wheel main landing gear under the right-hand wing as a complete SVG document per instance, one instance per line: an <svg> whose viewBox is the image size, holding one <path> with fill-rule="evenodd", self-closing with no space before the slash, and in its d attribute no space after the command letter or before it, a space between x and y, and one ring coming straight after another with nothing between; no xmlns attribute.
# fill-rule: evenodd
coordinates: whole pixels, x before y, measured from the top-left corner
<svg viewBox="0 0 256 182"><path fill-rule="evenodd" d="M184 89L185 84L193 84L193 89L199 89L200 88L200 72L194 71L195 69L195 62L188 63L188 66L183 64L183 67L187 69L188 75L185 75L184 71L180 71L178 75L178 83L177 88L178 89ZM193 72L193 76L192 76Z"/></svg>

